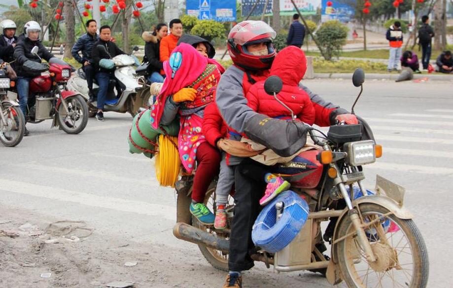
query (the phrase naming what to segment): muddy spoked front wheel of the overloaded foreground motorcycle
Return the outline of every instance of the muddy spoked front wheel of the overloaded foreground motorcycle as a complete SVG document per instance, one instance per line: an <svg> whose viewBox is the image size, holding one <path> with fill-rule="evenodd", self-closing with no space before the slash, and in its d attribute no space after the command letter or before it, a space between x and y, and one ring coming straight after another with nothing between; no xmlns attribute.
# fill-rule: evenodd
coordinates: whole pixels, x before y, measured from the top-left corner
<svg viewBox="0 0 453 288"><path fill-rule="evenodd" d="M360 205L365 234L377 260L369 262L347 217L339 226L336 253L343 280L351 288L425 288L429 261L423 238L412 220L399 219L382 206Z"/></svg>

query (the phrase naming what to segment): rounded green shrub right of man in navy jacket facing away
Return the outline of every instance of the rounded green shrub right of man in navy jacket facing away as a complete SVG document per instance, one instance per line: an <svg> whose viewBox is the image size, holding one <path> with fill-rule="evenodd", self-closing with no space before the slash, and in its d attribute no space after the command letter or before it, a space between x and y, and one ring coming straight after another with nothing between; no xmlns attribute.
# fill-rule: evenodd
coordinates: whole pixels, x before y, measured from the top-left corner
<svg viewBox="0 0 453 288"><path fill-rule="evenodd" d="M337 20L324 22L316 32L316 39L324 51L326 60L333 56L340 57L343 45L348 37L348 27Z"/></svg>

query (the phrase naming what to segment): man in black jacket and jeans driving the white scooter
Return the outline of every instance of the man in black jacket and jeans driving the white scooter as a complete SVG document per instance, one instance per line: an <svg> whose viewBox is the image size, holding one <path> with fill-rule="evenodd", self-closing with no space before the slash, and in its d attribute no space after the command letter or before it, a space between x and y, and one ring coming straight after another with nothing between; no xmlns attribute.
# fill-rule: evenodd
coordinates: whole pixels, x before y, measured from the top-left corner
<svg viewBox="0 0 453 288"><path fill-rule="evenodd" d="M96 119L98 121L104 121L104 104L107 98L108 83L110 79L113 79L113 72L115 71L115 64L111 59L117 55L126 54L124 53L115 43L110 41L111 30L110 26L104 25L99 29L100 39L93 45L91 52L92 64L95 64L97 71L95 74L96 80L98 81L99 91L97 99L98 113ZM105 46L105 52L100 51L98 45ZM116 87L118 95L121 94L121 89L117 85Z"/></svg>

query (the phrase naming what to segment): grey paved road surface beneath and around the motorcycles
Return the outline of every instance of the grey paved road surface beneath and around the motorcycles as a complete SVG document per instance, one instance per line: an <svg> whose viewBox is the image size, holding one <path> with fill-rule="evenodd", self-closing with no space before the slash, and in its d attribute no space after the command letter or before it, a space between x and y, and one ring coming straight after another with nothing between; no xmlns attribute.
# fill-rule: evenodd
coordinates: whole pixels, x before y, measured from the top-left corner
<svg viewBox="0 0 453 288"><path fill-rule="evenodd" d="M311 80L306 85L345 108L358 93L345 80ZM373 187L379 173L407 188L406 205L416 216L431 259L428 287L450 287L445 267L453 266L452 84L369 81L364 89L355 110L370 122L384 151L382 159L367 167L367 184ZM152 161L128 153L130 115L109 112L105 119L90 119L80 135L50 129L50 122L29 125L31 136L18 147L0 147L0 218L83 220L104 240L168 255L169 263L162 267L172 267L174 277L139 287L199 287L198 271L203 271L206 287L220 287L223 272L211 268L195 245L172 235L174 192L157 185ZM110 249L109 243L99 242L98 253ZM186 270L188 263L192 269ZM258 265L245 275L245 287L270 288L275 281L282 288L330 287L311 273L300 275L272 274Z"/></svg>

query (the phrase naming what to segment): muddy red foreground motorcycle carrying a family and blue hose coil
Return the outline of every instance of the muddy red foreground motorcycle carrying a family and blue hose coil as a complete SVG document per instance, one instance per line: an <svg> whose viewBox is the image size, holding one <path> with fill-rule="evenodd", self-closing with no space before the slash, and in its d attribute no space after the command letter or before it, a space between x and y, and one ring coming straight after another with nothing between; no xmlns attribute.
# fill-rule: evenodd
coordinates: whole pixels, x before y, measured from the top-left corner
<svg viewBox="0 0 453 288"><path fill-rule="evenodd" d="M277 99L281 80L276 80L276 76L270 78L266 82L280 81L265 85L266 92ZM354 107L363 91L363 70L357 69L352 80L354 86L361 88ZM369 131L364 133L363 129ZM374 139L366 122L339 123L331 126L327 134L315 131L309 128L309 135L322 149L303 152L277 167L280 175L291 183L291 190L307 202L307 221L285 248L269 253L255 247L251 251L252 259L264 262L268 268L273 265L276 272L320 272L332 285L345 281L351 288L425 288L429 272L427 250L413 215L404 207L405 189L379 175L375 192L365 189L365 165L382 156L382 146L374 140L361 140L364 134ZM230 200L226 207L227 229L216 230L199 223L188 209L191 181L189 176L183 176L176 183L174 236L198 244L213 267L228 271L235 204ZM205 199L215 214L214 192L215 182L211 183ZM272 224L283 221L280 217L285 213L285 206L278 199L269 204L275 205L275 223L268 223L269 230ZM324 233L323 222L328 222ZM326 243L330 244L330 257L323 254Z"/></svg>

